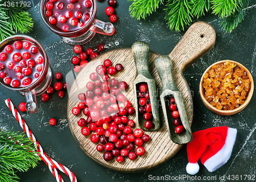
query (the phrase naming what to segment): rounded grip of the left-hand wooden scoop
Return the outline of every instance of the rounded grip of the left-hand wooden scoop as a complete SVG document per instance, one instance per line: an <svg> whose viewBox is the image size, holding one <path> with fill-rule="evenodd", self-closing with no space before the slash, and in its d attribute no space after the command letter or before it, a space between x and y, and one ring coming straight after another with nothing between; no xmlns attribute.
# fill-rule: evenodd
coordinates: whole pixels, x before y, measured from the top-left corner
<svg viewBox="0 0 256 182"><path fill-rule="evenodd" d="M135 42L132 45L132 53L136 66L136 76L143 75L147 79L153 79L148 68L148 60L150 56L150 47L146 42Z"/></svg>

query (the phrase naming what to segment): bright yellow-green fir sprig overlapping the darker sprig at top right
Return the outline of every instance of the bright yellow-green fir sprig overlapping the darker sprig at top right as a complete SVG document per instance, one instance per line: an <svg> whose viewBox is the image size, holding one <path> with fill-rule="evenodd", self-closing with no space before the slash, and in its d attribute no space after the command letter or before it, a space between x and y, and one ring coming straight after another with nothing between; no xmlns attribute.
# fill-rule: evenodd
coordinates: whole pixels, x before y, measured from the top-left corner
<svg viewBox="0 0 256 182"><path fill-rule="evenodd" d="M238 9L240 0L212 0L212 13L225 17L233 14Z"/></svg>

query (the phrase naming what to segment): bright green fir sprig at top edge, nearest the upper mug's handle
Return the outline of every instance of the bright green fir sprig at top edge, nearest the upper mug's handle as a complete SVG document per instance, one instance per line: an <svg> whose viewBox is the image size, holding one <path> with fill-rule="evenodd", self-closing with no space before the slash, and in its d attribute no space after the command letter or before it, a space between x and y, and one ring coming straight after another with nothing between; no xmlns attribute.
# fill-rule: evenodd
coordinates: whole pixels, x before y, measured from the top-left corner
<svg viewBox="0 0 256 182"><path fill-rule="evenodd" d="M159 7L159 3L163 4L163 0L129 0L133 1L132 5L129 7L131 16L137 18L145 19L147 15L152 14Z"/></svg>

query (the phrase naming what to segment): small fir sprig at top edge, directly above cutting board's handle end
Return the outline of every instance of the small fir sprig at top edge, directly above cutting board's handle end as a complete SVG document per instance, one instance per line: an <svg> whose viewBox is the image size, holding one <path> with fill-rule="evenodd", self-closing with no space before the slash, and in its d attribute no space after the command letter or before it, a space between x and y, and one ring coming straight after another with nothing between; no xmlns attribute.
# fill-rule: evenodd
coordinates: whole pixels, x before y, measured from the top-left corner
<svg viewBox="0 0 256 182"><path fill-rule="evenodd" d="M191 2L191 13L197 18L204 15L205 11L210 11L210 0L191 0Z"/></svg>

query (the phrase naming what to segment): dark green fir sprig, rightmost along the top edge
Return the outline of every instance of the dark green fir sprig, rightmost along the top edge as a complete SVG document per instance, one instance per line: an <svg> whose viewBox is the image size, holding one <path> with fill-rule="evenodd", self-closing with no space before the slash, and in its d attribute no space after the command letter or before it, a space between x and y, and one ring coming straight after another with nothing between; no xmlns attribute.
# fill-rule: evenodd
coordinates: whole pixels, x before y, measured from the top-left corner
<svg viewBox="0 0 256 182"><path fill-rule="evenodd" d="M241 0L239 2L239 8L230 16L224 18L219 18L219 25L222 27L222 30L231 33L234 28L244 19L245 10L249 6L248 0Z"/></svg>

